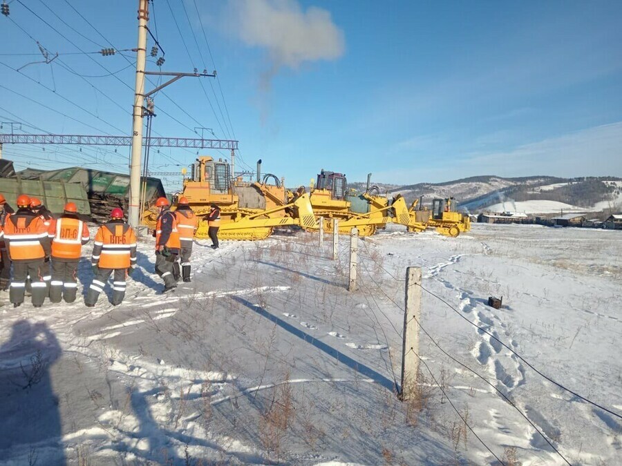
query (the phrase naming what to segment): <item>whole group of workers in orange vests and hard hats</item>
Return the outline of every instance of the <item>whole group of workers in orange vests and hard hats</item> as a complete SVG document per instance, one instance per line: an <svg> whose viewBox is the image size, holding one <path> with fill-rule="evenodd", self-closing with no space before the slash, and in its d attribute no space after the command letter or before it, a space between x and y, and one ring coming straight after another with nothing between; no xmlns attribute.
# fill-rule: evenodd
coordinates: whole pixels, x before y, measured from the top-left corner
<svg viewBox="0 0 622 466"><path fill-rule="evenodd" d="M156 225L156 273L164 280L164 291L177 287L182 278L190 282L190 256L197 218L185 197L175 211L166 197L156 201L160 215ZM218 248L220 209L211 205L207 217L211 247ZM30 288L32 305L41 307L46 297L51 302L74 302L77 294L77 266L82 246L91 239L88 226L81 220L77 206L68 202L60 217L53 217L36 197L19 195L17 211L0 194L0 289L9 291L14 307L24 300ZM113 275L113 305L125 297L126 278L136 267L136 235L124 221L121 208L113 208L109 222L97 230L91 255L93 281L84 304L93 307L106 282ZM181 263L180 263L181 260Z"/></svg>

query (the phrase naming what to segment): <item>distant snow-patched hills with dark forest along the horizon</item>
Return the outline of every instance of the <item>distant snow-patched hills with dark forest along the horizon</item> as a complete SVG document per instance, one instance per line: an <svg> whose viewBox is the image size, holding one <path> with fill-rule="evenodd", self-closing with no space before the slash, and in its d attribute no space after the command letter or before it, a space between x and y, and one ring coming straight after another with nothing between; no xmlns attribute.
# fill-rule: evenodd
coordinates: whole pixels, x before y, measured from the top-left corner
<svg viewBox="0 0 622 466"><path fill-rule="evenodd" d="M396 184L372 183L382 193L402 194L408 203L419 197L430 204L434 197L455 197L460 206L470 212L525 211L534 213L538 206L550 210L622 211L622 178L577 177L562 178L547 175L530 177L500 177L480 175L442 183ZM366 183L350 183L351 188L364 191ZM543 203L542 201L552 201ZM520 204L515 204L515 203ZM513 204L514 203L514 204ZM541 208L541 207L540 207ZM543 212L547 213L547 212Z"/></svg>

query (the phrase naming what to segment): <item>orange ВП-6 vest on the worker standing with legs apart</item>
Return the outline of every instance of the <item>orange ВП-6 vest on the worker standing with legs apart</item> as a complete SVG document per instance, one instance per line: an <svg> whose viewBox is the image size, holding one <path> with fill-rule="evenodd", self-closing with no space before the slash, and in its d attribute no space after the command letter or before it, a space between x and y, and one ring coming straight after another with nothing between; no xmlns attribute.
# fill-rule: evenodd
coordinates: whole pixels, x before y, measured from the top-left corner
<svg viewBox="0 0 622 466"><path fill-rule="evenodd" d="M136 235L131 226L111 222L100 226L93 242L93 264L100 269L128 269L136 261Z"/></svg>

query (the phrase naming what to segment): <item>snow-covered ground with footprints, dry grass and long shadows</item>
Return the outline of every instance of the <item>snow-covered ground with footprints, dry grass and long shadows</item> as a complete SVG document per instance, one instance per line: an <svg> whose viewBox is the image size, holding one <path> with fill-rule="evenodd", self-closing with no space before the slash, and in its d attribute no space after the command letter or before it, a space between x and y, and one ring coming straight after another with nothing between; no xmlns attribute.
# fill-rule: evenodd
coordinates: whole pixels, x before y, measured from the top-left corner
<svg viewBox="0 0 622 466"><path fill-rule="evenodd" d="M337 261L301 232L195 246L194 281L160 295L147 238L119 307L3 294L0 464L622 462L621 418L527 364L622 413L620 232L381 232L359 241L355 293L348 242ZM429 337L400 402L406 266Z"/></svg>

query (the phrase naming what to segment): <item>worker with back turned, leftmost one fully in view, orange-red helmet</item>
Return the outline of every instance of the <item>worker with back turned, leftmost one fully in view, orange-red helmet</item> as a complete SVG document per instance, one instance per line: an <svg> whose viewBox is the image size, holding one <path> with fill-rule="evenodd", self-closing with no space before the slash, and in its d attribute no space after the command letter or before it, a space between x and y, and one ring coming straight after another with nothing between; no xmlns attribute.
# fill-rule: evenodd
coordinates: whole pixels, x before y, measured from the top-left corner
<svg viewBox="0 0 622 466"><path fill-rule="evenodd" d="M41 307L46 299L44 264L50 258L50 239L43 219L30 210L30 197L17 197L17 212L4 224L4 238L13 262L9 298L14 307L23 303L26 277L32 281L32 305Z"/></svg>

